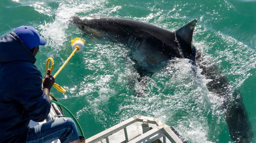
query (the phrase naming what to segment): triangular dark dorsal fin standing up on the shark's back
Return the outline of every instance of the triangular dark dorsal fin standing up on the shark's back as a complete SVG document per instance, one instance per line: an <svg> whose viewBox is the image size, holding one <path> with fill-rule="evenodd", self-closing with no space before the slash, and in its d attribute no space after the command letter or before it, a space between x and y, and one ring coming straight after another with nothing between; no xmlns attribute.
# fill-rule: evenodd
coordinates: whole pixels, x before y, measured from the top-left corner
<svg viewBox="0 0 256 143"><path fill-rule="evenodd" d="M175 31L176 36L178 35L179 38L184 40L187 44L191 45L192 42L192 36L195 29L195 26L197 24L197 20L194 19L190 21L189 23L183 25L181 28Z"/></svg>

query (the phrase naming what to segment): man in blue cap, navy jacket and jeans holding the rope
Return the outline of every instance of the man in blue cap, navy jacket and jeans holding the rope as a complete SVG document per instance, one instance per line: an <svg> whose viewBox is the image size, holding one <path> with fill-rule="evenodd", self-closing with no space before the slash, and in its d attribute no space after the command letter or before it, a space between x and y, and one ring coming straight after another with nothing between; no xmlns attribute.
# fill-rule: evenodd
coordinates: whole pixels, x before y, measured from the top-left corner
<svg viewBox="0 0 256 143"><path fill-rule="evenodd" d="M78 140L75 123L58 118L29 127L30 120L43 121L50 112L50 90L55 79L50 69L44 76L34 65L39 45L46 41L30 26L20 26L0 39L0 142L44 143Z"/></svg>

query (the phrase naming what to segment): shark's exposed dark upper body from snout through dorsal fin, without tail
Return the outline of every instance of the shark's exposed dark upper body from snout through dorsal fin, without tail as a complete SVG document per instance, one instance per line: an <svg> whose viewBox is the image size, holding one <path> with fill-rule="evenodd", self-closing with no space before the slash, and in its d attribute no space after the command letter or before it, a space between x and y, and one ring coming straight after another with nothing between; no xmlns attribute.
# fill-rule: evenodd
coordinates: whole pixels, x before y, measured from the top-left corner
<svg viewBox="0 0 256 143"><path fill-rule="evenodd" d="M172 57L193 59L191 48L196 20L185 24L176 32L144 22L110 17L73 17L73 23L88 34L108 37L132 49L138 49L149 64L163 62ZM193 46L192 46L193 47Z"/></svg>

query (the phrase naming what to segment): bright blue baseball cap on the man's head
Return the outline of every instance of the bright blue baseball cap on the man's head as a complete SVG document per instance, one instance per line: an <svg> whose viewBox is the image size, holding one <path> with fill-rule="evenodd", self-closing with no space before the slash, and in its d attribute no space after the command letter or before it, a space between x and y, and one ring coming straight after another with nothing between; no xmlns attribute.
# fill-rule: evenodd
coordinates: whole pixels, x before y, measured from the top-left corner
<svg viewBox="0 0 256 143"><path fill-rule="evenodd" d="M31 50L39 45L45 45L46 41L39 33L31 26L20 26L13 31Z"/></svg>

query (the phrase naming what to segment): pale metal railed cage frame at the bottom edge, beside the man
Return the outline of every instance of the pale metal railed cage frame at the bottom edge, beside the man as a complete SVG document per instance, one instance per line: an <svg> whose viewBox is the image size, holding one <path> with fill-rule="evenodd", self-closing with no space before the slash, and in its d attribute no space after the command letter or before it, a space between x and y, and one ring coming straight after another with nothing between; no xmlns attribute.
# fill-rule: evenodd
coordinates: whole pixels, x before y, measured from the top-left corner
<svg viewBox="0 0 256 143"><path fill-rule="evenodd" d="M176 132L176 131L175 131ZM86 143L183 143L181 137L158 118L136 115L97 135ZM166 139L167 138L167 139Z"/></svg>

